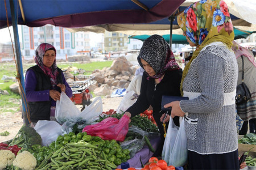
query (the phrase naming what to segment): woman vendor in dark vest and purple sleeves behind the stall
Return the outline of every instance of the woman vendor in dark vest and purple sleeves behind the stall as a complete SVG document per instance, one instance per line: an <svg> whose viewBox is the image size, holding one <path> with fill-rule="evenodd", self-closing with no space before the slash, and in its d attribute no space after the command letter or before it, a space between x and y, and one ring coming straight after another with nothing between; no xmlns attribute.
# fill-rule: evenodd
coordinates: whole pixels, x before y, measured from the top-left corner
<svg viewBox="0 0 256 170"><path fill-rule="evenodd" d="M35 63L26 73L25 89L31 126L39 120L55 120L56 100L60 92L72 96L72 90L66 82L63 72L56 65L56 49L43 43L36 49Z"/></svg>

